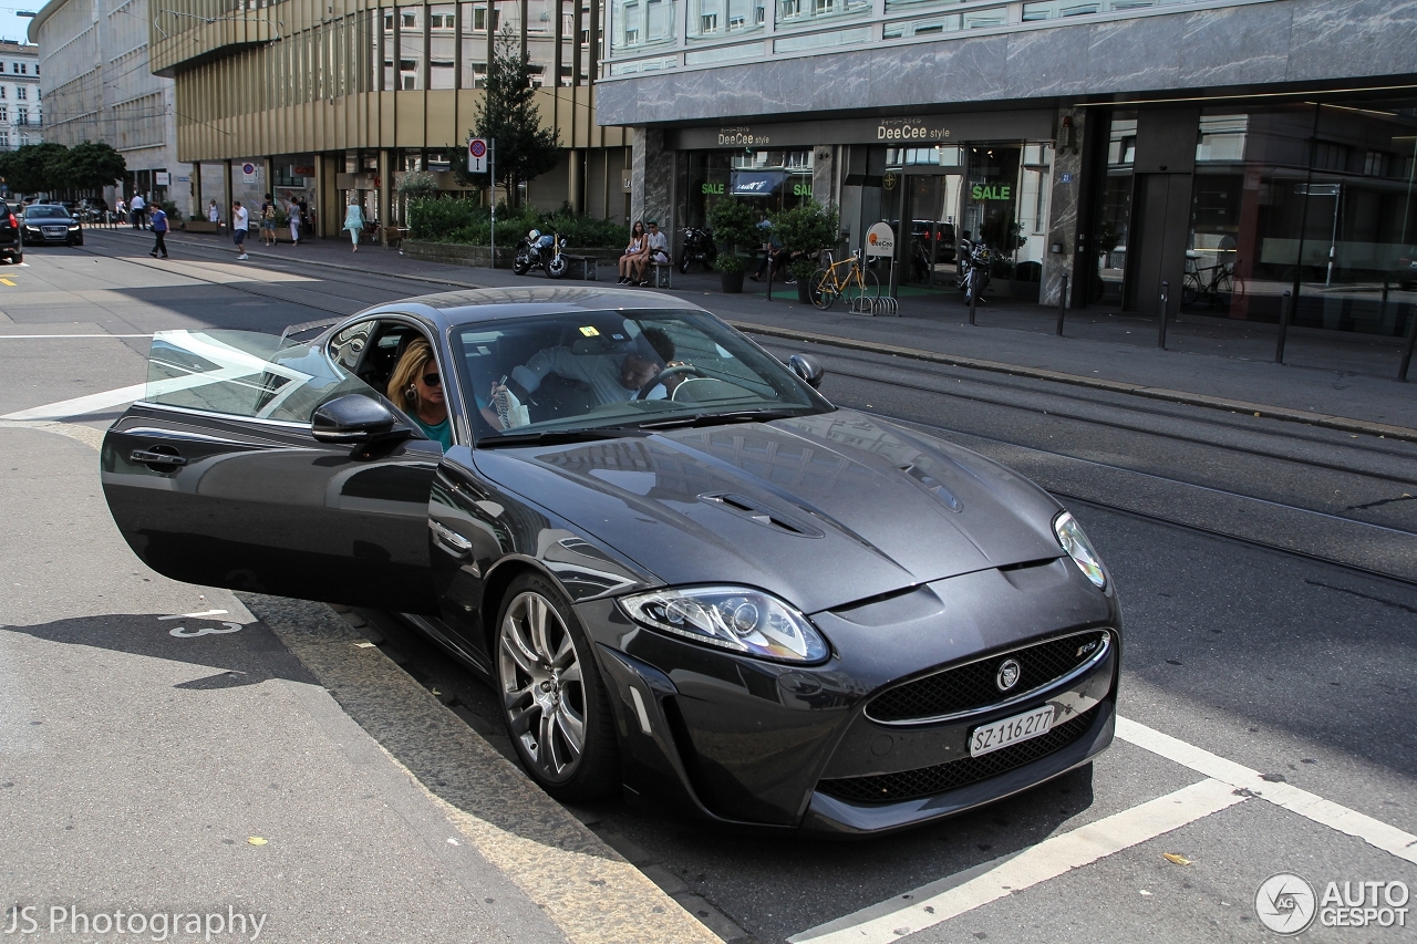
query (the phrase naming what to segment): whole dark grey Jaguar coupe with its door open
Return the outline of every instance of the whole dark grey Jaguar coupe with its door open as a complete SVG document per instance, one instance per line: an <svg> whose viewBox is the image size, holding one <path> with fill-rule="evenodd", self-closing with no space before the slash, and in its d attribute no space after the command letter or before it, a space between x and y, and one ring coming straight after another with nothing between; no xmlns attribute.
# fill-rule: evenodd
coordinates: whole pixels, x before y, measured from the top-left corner
<svg viewBox="0 0 1417 944"><path fill-rule="evenodd" d="M446 451L385 397L419 342ZM679 299L589 288L167 332L103 490L169 577L404 614L564 799L862 835L1088 763L1121 614L1077 522L835 408L820 376Z"/></svg>

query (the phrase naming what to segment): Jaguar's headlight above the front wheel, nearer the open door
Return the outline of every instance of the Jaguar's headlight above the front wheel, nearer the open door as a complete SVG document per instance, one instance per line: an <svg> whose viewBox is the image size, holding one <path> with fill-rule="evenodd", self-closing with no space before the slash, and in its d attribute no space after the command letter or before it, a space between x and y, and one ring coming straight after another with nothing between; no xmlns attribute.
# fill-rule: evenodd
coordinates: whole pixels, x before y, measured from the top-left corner
<svg viewBox="0 0 1417 944"><path fill-rule="evenodd" d="M830 646L801 612L747 587L684 587L622 597L639 624L779 662L822 662Z"/></svg>

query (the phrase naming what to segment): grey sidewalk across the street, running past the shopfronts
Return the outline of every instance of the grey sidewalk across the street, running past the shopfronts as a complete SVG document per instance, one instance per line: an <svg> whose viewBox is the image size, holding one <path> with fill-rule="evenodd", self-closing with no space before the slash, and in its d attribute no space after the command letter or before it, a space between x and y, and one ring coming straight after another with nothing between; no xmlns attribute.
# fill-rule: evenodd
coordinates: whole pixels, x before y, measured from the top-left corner
<svg viewBox="0 0 1417 944"><path fill-rule="evenodd" d="M105 237L111 232L113 241L139 241L132 230L91 230L89 235L108 242ZM140 237L149 244L149 234ZM174 234L167 242L179 255L183 251L210 258L234 255L231 242L218 237ZM293 261L436 285L503 288L547 282L538 274L517 276L507 269L418 262L377 245L360 247L354 254L344 240L275 248L261 247L258 240L248 244L248 251L256 265ZM1057 309L1007 299L979 306L976 325L971 326L958 292L908 295L901 298L900 318L866 318L849 315L840 305L828 312L801 305L791 285L774 286L772 300L764 286L754 282L745 286L751 291L724 295L716 274L696 268L689 275L674 272L674 288L667 293L701 305L745 330L786 339L813 343L847 339L852 346L879 347L883 353L922 354L959 366L1417 441L1417 384L1394 380L1401 353L1401 340L1396 337L1291 329L1287 363L1281 366L1272 363L1274 326L1253 322L1231 325L1183 316L1168 327L1168 346L1161 350L1155 319L1104 306L1068 310L1064 336L1057 337ZM411 286L410 293L424 291L432 289ZM1333 424L1326 418L1356 422Z"/></svg>

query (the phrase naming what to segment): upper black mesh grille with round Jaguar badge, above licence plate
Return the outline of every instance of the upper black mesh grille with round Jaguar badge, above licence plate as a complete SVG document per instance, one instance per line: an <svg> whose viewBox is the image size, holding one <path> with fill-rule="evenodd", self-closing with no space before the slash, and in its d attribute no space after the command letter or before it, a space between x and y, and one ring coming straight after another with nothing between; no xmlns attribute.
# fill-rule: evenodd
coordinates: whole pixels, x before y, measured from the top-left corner
<svg viewBox="0 0 1417 944"><path fill-rule="evenodd" d="M866 706L873 721L927 721L930 719L972 712L1047 687L1098 653L1107 641L1105 629L1074 632L1058 639L1000 652L955 669L945 669L922 679L881 692ZM1098 644L1088 646L1088 644ZM995 676L1005 659L1019 663L1019 680L999 692Z"/></svg>

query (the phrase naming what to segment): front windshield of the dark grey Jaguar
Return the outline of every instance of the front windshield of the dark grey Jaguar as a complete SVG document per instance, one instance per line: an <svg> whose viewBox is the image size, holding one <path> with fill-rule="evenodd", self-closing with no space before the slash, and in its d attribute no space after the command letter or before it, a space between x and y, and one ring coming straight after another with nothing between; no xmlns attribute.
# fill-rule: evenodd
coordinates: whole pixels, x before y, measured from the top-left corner
<svg viewBox="0 0 1417 944"><path fill-rule="evenodd" d="M479 444L829 412L707 312L570 312L453 329Z"/></svg>

